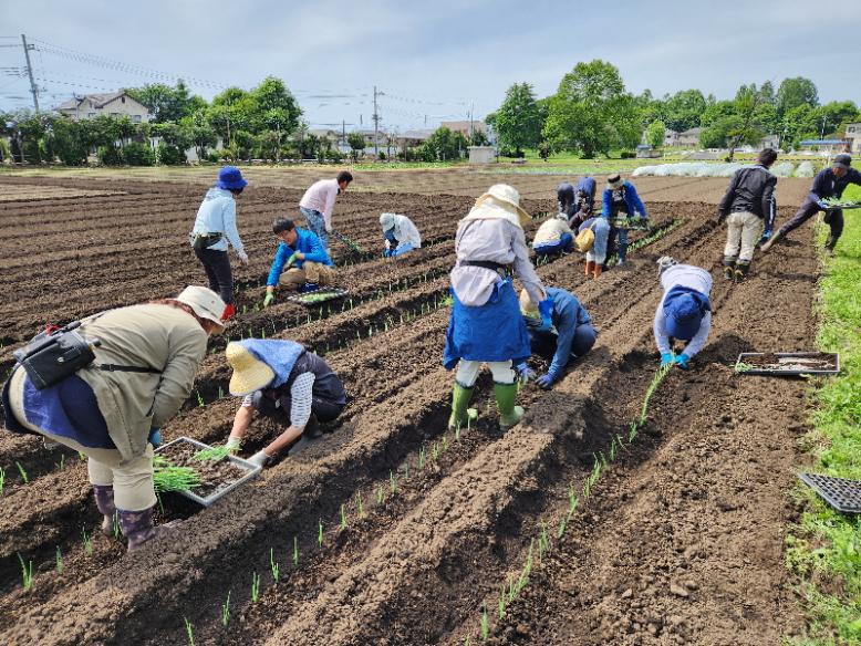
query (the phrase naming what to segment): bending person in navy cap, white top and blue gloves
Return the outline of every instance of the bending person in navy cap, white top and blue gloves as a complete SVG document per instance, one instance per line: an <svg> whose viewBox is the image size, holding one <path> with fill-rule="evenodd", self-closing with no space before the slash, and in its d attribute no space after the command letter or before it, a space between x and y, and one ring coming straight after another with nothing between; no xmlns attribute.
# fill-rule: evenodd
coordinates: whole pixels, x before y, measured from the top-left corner
<svg viewBox="0 0 861 646"><path fill-rule="evenodd" d="M687 369L712 330L712 274L693 264L678 264L668 256L657 261L657 268L664 294L653 329L661 365ZM673 354L673 338L688 342L680 355Z"/></svg>

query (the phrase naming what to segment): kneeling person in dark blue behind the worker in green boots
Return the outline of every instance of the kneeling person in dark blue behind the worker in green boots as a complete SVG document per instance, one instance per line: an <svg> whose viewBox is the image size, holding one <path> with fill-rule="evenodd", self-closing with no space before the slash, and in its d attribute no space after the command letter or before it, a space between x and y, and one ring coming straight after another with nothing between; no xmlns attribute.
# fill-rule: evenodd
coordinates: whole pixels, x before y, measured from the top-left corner
<svg viewBox="0 0 861 646"><path fill-rule="evenodd" d="M541 319L526 290L520 292L520 311L532 338L532 354L550 362L547 374L538 377L536 384L549 389L562 377L568 364L592 350L598 331L592 326L589 313L571 292L547 288L546 294L553 302L549 322ZM518 373L523 374L523 367L525 364L517 366Z"/></svg>

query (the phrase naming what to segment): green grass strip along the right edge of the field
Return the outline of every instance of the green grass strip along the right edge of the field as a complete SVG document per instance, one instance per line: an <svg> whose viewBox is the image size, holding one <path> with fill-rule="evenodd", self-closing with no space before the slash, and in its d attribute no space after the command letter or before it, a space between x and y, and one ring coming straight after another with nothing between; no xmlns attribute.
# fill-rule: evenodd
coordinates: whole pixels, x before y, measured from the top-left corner
<svg viewBox="0 0 861 646"><path fill-rule="evenodd" d="M844 197L861 198L850 186ZM861 479L861 218L846 213L837 254L820 282L818 346L839 352L840 375L818 382L813 430L806 438L812 471ZM822 228L824 229L824 228ZM824 237L820 230L820 242ZM801 580L808 637L797 644L861 644L861 517L833 511L807 488L806 510L787 538L787 565Z"/></svg>

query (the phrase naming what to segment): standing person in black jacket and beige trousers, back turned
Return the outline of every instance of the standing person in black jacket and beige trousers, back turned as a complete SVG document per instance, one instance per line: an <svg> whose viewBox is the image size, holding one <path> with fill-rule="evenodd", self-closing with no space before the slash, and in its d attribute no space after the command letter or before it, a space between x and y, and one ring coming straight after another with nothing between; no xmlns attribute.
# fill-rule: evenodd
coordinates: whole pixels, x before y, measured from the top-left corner
<svg viewBox="0 0 861 646"><path fill-rule="evenodd" d="M723 259L727 280L745 280L763 230L771 231L775 225L777 177L768 169L776 159L777 153L766 148L759 153L755 166L736 170L717 207L717 221L726 220L727 225Z"/></svg>

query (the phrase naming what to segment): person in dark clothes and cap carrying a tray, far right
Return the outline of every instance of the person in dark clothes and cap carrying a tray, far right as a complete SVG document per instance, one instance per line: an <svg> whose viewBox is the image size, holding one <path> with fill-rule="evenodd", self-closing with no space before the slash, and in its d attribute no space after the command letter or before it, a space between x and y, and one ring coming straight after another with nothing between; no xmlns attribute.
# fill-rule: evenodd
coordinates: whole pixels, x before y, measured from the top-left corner
<svg viewBox="0 0 861 646"><path fill-rule="evenodd" d="M786 238L787 233L798 229L819 211L826 211L824 221L830 229L828 240L826 241L826 251L833 256L837 241L843 233L843 209L829 208L824 200L829 198L839 199L850 184L861 186L861 173L852 168L852 157L847 154L838 155L834 157L830 168L823 168L817 174L810 192L805 198L805 201L801 202L796 215L780 227L774 237L771 237L770 229L766 229L763 238L765 240L761 247L763 253L766 253L778 240Z"/></svg>

